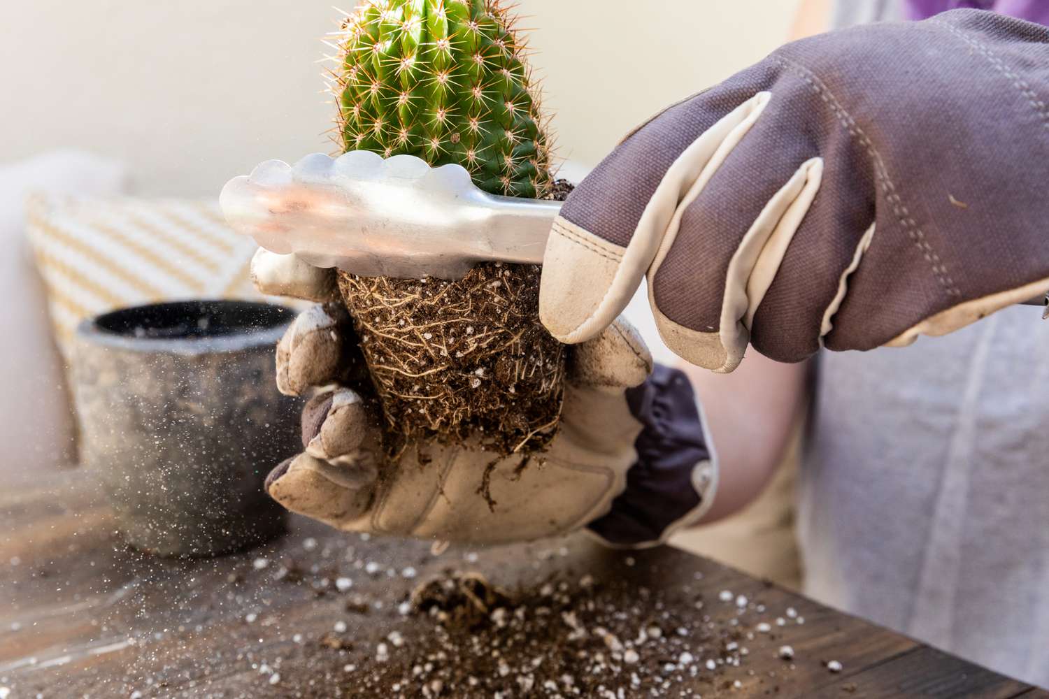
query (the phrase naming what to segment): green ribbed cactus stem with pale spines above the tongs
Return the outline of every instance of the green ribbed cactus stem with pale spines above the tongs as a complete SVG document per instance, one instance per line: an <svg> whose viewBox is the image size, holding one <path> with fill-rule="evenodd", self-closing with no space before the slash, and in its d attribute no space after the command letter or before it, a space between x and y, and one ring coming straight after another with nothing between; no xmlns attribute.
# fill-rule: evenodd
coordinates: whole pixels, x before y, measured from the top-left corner
<svg viewBox="0 0 1049 699"><path fill-rule="evenodd" d="M343 150L456 163L486 192L547 196L545 123L513 24L497 0L364 0L329 77Z"/></svg>

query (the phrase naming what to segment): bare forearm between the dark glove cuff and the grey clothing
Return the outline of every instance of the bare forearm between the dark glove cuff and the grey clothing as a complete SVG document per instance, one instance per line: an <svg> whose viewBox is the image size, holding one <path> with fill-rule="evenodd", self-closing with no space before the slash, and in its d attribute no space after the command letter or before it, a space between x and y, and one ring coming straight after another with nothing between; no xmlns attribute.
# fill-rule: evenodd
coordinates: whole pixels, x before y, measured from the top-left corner
<svg viewBox="0 0 1049 699"><path fill-rule="evenodd" d="M808 366L780 364L752 351L731 374L680 367L703 407L718 455L716 495L699 524L738 511L768 484L805 410Z"/></svg>

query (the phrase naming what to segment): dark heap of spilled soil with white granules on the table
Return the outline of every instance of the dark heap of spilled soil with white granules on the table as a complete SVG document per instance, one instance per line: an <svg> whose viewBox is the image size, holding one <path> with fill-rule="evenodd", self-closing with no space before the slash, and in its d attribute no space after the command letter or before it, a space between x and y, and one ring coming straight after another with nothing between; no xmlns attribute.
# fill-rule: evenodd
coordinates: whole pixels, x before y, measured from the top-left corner
<svg viewBox="0 0 1049 699"><path fill-rule="evenodd" d="M391 633L355 663L345 696L695 697L698 682L730 690L723 669L748 654L740 627L689 621L644 588L590 576L510 592L479 573L447 571L415 588L410 604L428 630Z"/></svg>

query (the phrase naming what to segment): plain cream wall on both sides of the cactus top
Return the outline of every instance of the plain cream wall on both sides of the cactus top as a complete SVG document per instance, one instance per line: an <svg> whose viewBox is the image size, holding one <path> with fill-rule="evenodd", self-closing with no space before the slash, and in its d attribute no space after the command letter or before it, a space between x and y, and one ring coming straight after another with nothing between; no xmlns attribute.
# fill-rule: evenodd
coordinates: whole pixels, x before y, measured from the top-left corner
<svg viewBox="0 0 1049 699"><path fill-rule="evenodd" d="M0 162L78 147L128 162L140 193L209 195L261 160L328 152L315 61L333 2L4 0ZM638 122L782 43L796 5L520 0L558 154L595 165Z"/></svg>

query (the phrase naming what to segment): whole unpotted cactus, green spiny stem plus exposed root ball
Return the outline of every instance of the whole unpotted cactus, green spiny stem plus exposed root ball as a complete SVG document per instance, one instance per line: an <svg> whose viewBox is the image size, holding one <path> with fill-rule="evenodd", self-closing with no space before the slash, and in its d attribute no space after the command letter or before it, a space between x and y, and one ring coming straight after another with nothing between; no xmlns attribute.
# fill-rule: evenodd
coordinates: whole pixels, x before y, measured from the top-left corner
<svg viewBox="0 0 1049 699"><path fill-rule="evenodd" d="M492 194L551 195L538 92L497 0L364 0L338 41L329 83L344 151L456 163ZM538 320L538 267L339 277L392 450L410 437L479 439L524 459L553 437L564 348Z"/></svg>

